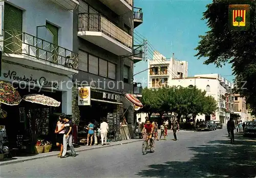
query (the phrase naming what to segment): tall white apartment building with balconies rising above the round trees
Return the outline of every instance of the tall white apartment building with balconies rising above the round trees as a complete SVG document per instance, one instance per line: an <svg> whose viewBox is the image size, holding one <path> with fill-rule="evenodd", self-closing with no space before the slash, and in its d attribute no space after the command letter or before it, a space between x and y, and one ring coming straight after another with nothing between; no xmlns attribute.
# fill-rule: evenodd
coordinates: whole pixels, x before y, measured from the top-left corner
<svg viewBox="0 0 256 178"><path fill-rule="evenodd" d="M155 51L153 60L148 61L148 88L169 86L173 79L186 78L187 67L187 61L176 60L174 54L171 59L167 59Z"/></svg>

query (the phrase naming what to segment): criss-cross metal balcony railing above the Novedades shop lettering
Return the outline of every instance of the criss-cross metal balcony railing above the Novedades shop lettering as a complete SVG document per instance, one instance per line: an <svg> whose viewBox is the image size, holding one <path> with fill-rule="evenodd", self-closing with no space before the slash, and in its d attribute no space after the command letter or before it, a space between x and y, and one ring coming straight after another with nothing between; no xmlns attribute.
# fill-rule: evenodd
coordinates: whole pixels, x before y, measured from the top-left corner
<svg viewBox="0 0 256 178"><path fill-rule="evenodd" d="M25 32L4 31L2 51L10 54L22 54L36 59L78 69L77 54L57 46L44 39Z"/></svg>

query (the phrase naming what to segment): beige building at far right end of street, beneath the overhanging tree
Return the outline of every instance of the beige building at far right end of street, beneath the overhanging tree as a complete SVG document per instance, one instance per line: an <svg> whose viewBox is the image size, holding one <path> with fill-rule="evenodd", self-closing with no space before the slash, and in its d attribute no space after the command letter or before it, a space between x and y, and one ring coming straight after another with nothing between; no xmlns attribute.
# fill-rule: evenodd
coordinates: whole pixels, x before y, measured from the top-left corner
<svg viewBox="0 0 256 178"><path fill-rule="evenodd" d="M241 97L240 94L234 94L234 113L239 114L242 121L251 120L250 114L246 109L245 97Z"/></svg>

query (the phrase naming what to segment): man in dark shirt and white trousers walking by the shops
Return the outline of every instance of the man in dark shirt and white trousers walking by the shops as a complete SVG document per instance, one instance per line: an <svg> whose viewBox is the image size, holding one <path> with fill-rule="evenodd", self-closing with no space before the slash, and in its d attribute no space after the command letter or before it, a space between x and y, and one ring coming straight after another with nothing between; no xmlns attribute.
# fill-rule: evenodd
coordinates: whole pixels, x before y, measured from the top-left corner
<svg viewBox="0 0 256 178"><path fill-rule="evenodd" d="M57 132L57 133L59 133L60 131L65 129L65 134L63 136L63 152L62 152L62 156L60 158L65 158L66 157L68 144L69 144L69 147L70 147L70 150L71 150L72 157L75 157L76 152L75 152L75 148L73 146L73 135L72 135L73 134L73 131L72 131L73 122L66 115L63 116L63 121L65 121L65 123L64 123L62 129Z"/></svg>

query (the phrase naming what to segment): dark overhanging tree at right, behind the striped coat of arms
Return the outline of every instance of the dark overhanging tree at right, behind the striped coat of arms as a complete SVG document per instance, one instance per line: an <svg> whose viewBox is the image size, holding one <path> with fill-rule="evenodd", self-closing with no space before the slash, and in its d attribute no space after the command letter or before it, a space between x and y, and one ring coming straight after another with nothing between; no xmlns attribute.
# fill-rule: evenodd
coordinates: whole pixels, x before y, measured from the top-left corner
<svg viewBox="0 0 256 178"><path fill-rule="evenodd" d="M248 31L230 31L228 28L227 0L213 0L203 13L210 31L201 38L196 47L198 59L207 58L204 64L215 64L217 67L229 62L236 75L236 89L245 96L252 110L256 111L256 1L238 2L250 4L250 29ZM241 20L241 18L237 18ZM245 82L246 85L244 86Z"/></svg>

